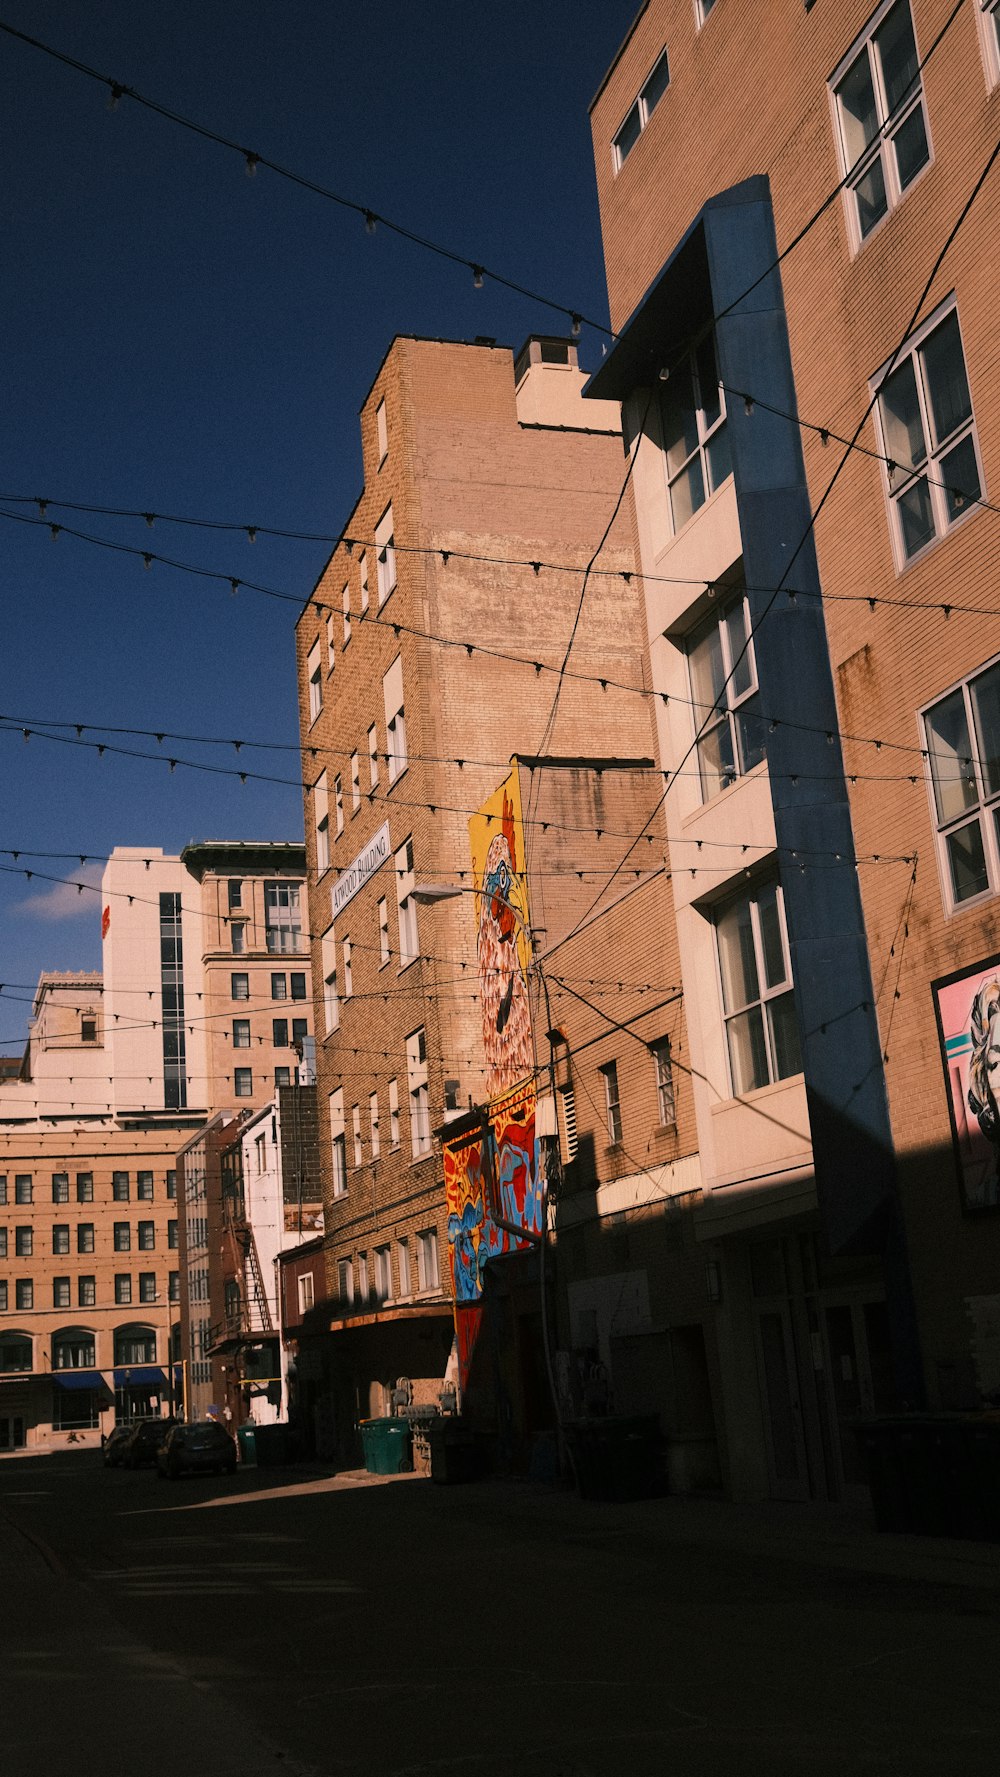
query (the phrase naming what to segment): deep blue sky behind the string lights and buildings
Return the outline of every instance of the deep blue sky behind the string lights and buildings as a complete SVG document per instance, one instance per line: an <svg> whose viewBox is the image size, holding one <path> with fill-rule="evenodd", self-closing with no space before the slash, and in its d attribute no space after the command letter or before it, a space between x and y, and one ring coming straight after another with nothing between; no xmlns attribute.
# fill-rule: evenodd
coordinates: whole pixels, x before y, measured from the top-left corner
<svg viewBox="0 0 1000 1777"><path fill-rule="evenodd" d="M606 320L586 107L638 0L0 0L123 85ZM114 844L297 839L297 604L94 549L50 522L304 599L321 544L64 512L59 501L336 533L357 409L396 332L519 347L551 311L396 240L0 34L0 1052L41 968L99 963L99 899L44 883ZM584 329L581 359L599 338ZM46 496L37 506L11 496ZM7 517L4 515L7 514ZM21 727L83 723L156 762ZM12 723L12 727L11 727ZM73 729L62 730L71 743ZM290 778L261 784L167 757ZM14 860L11 851L23 857ZM23 874L32 869L28 881ZM98 871L99 873L99 871ZM83 873L85 874L85 873ZM91 873L96 874L96 873ZM23 986L21 986L23 984Z"/></svg>

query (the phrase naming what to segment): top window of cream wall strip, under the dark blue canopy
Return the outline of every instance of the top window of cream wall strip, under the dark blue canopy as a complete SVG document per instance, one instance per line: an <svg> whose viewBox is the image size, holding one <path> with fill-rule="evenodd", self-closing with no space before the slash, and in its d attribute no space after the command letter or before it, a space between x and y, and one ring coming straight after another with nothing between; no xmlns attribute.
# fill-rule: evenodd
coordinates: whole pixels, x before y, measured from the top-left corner
<svg viewBox="0 0 1000 1777"><path fill-rule="evenodd" d="M732 471L714 334L670 371L659 396L659 421L670 517L679 531Z"/></svg>

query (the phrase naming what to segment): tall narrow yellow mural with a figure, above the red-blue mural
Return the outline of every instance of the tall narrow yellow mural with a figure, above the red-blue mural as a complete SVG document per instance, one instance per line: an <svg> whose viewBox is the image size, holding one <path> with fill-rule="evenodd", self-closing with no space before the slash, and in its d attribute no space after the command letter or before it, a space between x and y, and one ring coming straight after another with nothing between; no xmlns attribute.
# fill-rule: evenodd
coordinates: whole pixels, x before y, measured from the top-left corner
<svg viewBox="0 0 1000 1777"><path fill-rule="evenodd" d="M535 1068L528 967L531 940L517 766L469 821L476 888L487 1098Z"/></svg>

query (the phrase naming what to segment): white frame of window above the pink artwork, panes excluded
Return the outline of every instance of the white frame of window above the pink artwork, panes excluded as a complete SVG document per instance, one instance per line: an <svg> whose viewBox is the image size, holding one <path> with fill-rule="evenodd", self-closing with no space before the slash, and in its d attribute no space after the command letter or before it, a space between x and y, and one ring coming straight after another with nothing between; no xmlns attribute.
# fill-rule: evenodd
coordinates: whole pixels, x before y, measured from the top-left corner
<svg viewBox="0 0 1000 1777"><path fill-rule="evenodd" d="M931 798L931 821L934 823L938 844L938 867L945 890L945 904L952 913L964 912L968 906L980 906L984 901L1000 894L1000 780L995 789L989 787L986 777L989 746L984 745L982 721L977 716L977 689L984 686L984 681L1000 681L1000 654L984 661L984 665L977 666L975 672L966 673L964 679L959 679L957 684L952 684L941 697L936 697L920 711L920 736L925 759L927 794ZM934 714L941 711L945 704L950 704L959 697L964 720L964 737L961 750L945 752L931 723ZM948 769L941 769L941 764ZM938 794L938 784L947 785L948 780L952 784L956 780L963 784L964 803L957 812L950 814L941 807ZM972 826L979 828L986 887L979 892L959 897L952 869L952 841Z"/></svg>

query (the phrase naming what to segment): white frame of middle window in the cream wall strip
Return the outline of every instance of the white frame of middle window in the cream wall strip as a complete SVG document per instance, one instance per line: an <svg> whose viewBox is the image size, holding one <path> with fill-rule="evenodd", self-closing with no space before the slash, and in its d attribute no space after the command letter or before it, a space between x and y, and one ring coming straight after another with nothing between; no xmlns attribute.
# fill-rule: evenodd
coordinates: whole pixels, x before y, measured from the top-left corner
<svg viewBox="0 0 1000 1777"><path fill-rule="evenodd" d="M737 647L739 636L734 636L734 613L741 611L742 617L742 638L746 647ZM698 649L703 647L712 636L718 636L718 654L721 661L723 684L718 691L714 702L705 702L705 695L698 695L698 684L694 679L694 657ZM753 652L753 618L750 615L750 601L742 586L725 601L719 601L718 610L712 606L710 613L691 631L686 638L686 656L687 656L687 682L691 688L691 721L694 736L694 752L698 757L698 782L702 789L702 801L710 801L714 796L721 796L725 789L730 789L741 777L753 771L755 766L764 762L764 741L760 739L760 759L753 757L753 734L746 727L748 721L757 720L758 714L758 686L757 686L757 659ZM718 759L714 761L714 752L718 748ZM726 759L723 766L721 761ZM714 784L712 778L719 777L721 782Z"/></svg>

